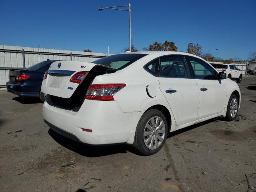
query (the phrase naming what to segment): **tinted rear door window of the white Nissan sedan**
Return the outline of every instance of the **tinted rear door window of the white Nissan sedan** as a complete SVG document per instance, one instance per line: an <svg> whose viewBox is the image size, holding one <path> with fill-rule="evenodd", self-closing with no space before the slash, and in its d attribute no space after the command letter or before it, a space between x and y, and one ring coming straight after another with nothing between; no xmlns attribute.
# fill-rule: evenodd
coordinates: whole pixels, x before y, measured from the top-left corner
<svg viewBox="0 0 256 192"><path fill-rule="evenodd" d="M172 56L160 58L159 76L174 78L187 77L184 57Z"/></svg>

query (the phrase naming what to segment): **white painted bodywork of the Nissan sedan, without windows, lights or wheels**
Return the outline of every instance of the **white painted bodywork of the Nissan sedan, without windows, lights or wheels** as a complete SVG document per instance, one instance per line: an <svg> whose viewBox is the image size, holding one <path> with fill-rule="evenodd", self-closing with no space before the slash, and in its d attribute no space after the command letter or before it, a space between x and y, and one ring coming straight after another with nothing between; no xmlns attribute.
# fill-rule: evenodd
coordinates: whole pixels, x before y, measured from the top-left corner
<svg viewBox="0 0 256 192"><path fill-rule="evenodd" d="M240 89L236 82L228 78L224 80L158 78L144 69L148 62L166 55L192 56L203 60L202 58L183 52L149 51L126 54L134 53L148 55L122 70L96 76L92 81L92 84L126 84L114 94L113 101L84 100L78 112L44 102L44 119L87 144L132 144L141 116L146 110L156 105L164 106L170 113L170 132L217 116L225 116L228 100L234 91L239 93L240 108ZM81 65L86 67L82 69ZM61 61L60 69L78 72L91 70L95 66L98 65ZM58 62L54 62L50 68L50 70L60 69L58 69ZM61 80L48 75L46 80L43 80L42 91L60 98L70 98L79 85L69 82L72 75L61 78ZM57 86L54 81L57 82ZM69 90L68 87L74 89ZM202 92L200 88L207 88L207 91ZM171 94L165 92L170 89L176 92ZM92 132L84 132L82 128L91 129Z"/></svg>

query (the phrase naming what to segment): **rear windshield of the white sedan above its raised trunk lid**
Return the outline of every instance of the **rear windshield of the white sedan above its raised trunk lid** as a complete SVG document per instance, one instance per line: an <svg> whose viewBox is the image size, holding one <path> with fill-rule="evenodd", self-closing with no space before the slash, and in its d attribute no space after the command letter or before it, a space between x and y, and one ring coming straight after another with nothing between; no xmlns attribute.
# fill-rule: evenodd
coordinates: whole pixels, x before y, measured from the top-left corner
<svg viewBox="0 0 256 192"><path fill-rule="evenodd" d="M117 70L121 70L146 55L147 54L138 54L138 53L111 55L111 56L96 60L92 63L105 65Z"/></svg>

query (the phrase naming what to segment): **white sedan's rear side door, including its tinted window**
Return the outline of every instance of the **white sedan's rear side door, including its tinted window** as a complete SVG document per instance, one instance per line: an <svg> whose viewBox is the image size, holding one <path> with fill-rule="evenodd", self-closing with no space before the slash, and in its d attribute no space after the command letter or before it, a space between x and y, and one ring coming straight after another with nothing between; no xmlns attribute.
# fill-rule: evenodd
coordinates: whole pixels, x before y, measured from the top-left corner
<svg viewBox="0 0 256 192"><path fill-rule="evenodd" d="M199 91L196 80L190 78L184 56L160 58L159 87L164 94L178 126L197 118Z"/></svg>

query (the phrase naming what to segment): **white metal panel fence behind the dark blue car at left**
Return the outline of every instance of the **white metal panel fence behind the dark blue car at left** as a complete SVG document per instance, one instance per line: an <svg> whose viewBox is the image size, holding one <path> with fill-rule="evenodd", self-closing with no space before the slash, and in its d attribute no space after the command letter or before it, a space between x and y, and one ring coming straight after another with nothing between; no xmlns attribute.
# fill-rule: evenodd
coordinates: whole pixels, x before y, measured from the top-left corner
<svg viewBox="0 0 256 192"><path fill-rule="evenodd" d="M93 62L106 56L104 53L0 45L0 86L8 81L10 68L28 68L47 59Z"/></svg>

